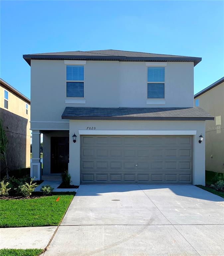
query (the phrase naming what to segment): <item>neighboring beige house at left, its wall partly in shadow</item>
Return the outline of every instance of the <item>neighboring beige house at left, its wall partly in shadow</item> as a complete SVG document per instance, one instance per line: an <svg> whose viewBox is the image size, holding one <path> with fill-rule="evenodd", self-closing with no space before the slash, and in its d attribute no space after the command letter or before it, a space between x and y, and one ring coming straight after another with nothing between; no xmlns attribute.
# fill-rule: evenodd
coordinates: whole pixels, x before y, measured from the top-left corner
<svg viewBox="0 0 224 256"><path fill-rule="evenodd" d="M30 99L0 78L0 118L10 170L30 167ZM1 171L5 168L1 163Z"/></svg>

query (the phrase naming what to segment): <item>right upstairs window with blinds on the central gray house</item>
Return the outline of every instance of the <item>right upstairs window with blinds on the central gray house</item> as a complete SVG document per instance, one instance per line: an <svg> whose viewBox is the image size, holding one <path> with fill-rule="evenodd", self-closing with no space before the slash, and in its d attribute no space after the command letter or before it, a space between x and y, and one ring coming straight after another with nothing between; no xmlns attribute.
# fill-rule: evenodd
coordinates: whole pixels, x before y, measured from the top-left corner
<svg viewBox="0 0 224 256"><path fill-rule="evenodd" d="M147 98L165 98L165 67L148 67Z"/></svg>

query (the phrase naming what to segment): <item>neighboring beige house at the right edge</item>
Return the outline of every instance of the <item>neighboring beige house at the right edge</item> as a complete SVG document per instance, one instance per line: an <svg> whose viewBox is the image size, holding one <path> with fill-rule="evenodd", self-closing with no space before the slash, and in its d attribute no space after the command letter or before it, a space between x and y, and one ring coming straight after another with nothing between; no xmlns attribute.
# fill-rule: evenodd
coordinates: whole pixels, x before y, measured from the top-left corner
<svg viewBox="0 0 224 256"><path fill-rule="evenodd" d="M205 169L224 173L224 77L196 93L194 105L215 117L205 122Z"/></svg>

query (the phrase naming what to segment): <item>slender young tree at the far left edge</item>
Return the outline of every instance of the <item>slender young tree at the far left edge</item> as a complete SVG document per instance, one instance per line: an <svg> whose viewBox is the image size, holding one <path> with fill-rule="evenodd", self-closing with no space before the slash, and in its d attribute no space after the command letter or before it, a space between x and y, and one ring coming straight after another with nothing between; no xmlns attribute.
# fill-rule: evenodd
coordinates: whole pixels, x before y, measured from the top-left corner
<svg viewBox="0 0 224 256"><path fill-rule="evenodd" d="M7 147L8 147L8 139L5 134L5 130L3 129L2 120L0 120L0 160L5 164L6 169L6 178L9 178L9 167L7 163Z"/></svg>

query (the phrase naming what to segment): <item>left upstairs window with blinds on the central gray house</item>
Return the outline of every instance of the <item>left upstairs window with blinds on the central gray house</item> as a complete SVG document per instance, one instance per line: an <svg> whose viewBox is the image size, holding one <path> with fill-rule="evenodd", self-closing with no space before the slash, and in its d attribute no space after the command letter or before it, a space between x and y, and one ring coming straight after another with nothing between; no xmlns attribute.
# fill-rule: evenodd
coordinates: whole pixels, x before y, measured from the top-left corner
<svg viewBox="0 0 224 256"><path fill-rule="evenodd" d="M84 66L66 66L66 97L84 98Z"/></svg>

